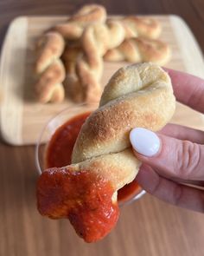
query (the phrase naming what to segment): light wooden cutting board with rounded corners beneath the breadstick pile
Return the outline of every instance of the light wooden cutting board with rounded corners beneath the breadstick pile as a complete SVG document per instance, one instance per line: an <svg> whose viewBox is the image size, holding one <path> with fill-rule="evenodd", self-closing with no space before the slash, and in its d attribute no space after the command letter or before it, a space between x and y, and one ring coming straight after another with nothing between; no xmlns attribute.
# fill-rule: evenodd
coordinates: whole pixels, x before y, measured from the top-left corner
<svg viewBox="0 0 204 256"><path fill-rule="evenodd" d="M152 17L163 26L160 39L172 49L171 61L166 66L204 78L201 49L188 25L178 16ZM67 16L21 16L10 24L0 62L0 129L3 139L12 145L35 144L48 120L74 105L70 100L60 104L35 102L33 87L35 40L43 31L66 19ZM102 85L124 64L105 62ZM172 122L204 128L203 115L182 104L177 104Z"/></svg>

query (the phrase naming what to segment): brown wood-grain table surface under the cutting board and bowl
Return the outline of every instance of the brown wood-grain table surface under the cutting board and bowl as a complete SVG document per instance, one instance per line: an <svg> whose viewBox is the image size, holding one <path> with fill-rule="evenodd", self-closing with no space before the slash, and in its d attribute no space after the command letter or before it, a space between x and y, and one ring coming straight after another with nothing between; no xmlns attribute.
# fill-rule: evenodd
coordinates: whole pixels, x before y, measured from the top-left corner
<svg viewBox="0 0 204 256"><path fill-rule="evenodd" d="M90 1L0 0L0 46L10 21L22 15L69 15ZM203 0L101 1L109 14L176 14L204 50ZM149 194L121 208L105 240L86 244L67 220L42 218L35 207L35 147L0 141L0 255L204 255L204 215L173 207Z"/></svg>

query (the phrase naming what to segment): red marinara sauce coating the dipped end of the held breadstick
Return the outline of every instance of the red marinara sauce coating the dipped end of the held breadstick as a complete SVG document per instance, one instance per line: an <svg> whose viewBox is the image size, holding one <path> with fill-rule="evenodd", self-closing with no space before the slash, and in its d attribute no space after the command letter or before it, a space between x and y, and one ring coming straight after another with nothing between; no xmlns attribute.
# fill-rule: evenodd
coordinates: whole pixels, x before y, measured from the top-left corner
<svg viewBox="0 0 204 256"><path fill-rule="evenodd" d="M113 192L110 182L99 175L54 167L38 180L38 210L51 219L68 218L80 237L94 242L104 238L118 220Z"/></svg>

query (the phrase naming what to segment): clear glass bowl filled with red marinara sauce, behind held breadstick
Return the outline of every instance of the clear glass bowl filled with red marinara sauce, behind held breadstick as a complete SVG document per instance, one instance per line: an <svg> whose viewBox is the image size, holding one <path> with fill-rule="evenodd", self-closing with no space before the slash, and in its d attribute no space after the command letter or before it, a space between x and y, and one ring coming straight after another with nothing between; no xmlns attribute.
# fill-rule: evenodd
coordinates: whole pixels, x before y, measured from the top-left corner
<svg viewBox="0 0 204 256"><path fill-rule="evenodd" d="M86 118L97 108L96 104L81 104L62 110L42 129L35 148L35 163L39 174L50 167L71 164L73 146ZM145 194L136 180L118 190L118 203L124 205Z"/></svg>

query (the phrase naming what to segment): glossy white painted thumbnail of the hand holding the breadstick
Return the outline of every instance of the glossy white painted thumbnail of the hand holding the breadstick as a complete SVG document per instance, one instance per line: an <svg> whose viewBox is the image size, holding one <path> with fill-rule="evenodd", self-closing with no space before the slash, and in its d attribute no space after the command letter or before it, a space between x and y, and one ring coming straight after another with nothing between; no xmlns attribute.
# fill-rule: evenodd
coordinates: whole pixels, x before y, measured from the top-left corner
<svg viewBox="0 0 204 256"><path fill-rule="evenodd" d="M130 140L132 147L145 156L153 156L159 151L159 137L145 128L134 128L131 130Z"/></svg>

